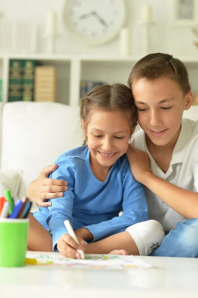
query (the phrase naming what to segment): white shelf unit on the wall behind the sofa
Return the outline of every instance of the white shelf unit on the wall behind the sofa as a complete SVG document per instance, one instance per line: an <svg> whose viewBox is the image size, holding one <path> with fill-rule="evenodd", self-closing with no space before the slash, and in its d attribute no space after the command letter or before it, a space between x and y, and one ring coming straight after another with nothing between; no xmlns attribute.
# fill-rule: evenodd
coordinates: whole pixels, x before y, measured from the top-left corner
<svg viewBox="0 0 198 298"><path fill-rule="evenodd" d="M100 80L107 83L127 84L128 76L138 56L88 56L88 55L17 55L0 54L0 77L3 80L3 101L8 98L9 60L31 59L42 65L52 65L57 70L57 101L76 106L80 98L80 81ZM198 58L180 57L190 75L194 94L198 92Z"/></svg>

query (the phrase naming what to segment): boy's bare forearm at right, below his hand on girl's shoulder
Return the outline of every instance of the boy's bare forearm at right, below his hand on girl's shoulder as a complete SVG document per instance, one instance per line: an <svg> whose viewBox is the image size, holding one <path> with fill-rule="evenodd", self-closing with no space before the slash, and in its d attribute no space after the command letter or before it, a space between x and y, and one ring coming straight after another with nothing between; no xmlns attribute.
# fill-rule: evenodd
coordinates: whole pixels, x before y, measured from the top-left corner
<svg viewBox="0 0 198 298"><path fill-rule="evenodd" d="M191 219L198 218L198 193L171 184L151 172L147 172L142 183L173 210Z"/></svg>

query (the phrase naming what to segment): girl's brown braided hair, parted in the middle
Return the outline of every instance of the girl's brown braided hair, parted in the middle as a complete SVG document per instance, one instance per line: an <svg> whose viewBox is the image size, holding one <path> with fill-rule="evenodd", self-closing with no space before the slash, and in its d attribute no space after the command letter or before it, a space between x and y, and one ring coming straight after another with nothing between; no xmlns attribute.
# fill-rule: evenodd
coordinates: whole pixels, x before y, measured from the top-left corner
<svg viewBox="0 0 198 298"><path fill-rule="evenodd" d="M131 112L132 127L137 124L137 110L132 91L123 84L94 87L80 101L80 118L87 125L93 110ZM83 145L86 144L86 139Z"/></svg>

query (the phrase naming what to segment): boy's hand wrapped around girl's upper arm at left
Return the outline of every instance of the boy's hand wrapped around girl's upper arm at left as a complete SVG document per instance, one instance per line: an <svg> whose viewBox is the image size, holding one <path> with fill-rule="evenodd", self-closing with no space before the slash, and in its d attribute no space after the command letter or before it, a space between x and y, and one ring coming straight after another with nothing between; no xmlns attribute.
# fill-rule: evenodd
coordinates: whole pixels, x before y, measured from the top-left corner
<svg viewBox="0 0 198 298"><path fill-rule="evenodd" d="M45 202L46 199L63 197L63 192L67 191L67 182L59 179L49 179L49 174L54 172L58 164L49 165L44 168L39 177L32 181L28 187L28 197L39 207L52 206L51 202Z"/></svg>

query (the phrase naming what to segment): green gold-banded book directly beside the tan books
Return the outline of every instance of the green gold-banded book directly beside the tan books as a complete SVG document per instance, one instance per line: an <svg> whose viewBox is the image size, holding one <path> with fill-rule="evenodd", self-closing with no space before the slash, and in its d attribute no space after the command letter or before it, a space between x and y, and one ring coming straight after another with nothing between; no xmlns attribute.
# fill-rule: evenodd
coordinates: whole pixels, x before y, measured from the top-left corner
<svg viewBox="0 0 198 298"><path fill-rule="evenodd" d="M34 71L37 62L35 60L24 60L22 64L22 93L24 101L34 100Z"/></svg>

